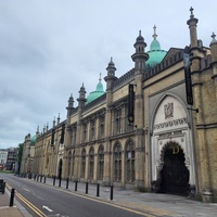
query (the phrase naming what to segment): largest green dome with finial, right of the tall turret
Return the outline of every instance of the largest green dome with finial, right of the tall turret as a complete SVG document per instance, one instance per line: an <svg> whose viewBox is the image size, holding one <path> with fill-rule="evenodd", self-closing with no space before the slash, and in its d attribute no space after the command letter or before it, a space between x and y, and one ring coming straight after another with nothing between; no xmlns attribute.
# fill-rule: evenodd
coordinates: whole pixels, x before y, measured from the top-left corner
<svg viewBox="0 0 217 217"><path fill-rule="evenodd" d="M148 51L150 58L145 62L146 69L152 68L156 64L161 63L167 53L166 51L161 50L161 44L156 40L157 35L156 35L155 30L156 30L156 27L154 26L154 35L153 35L154 40L152 41L152 43L150 46L150 51Z"/></svg>

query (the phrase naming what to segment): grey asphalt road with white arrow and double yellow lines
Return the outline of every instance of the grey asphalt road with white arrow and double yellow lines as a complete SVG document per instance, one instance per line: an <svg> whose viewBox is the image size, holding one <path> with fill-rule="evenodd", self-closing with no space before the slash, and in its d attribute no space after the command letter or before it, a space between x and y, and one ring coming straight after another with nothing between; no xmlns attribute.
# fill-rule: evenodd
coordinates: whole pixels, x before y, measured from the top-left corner
<svg viewBox="0 0 217 217"><path fill-rule="evenodd" d="M16 190L22 204L35 216L59 217L139 217L141 215L122 207L100 202L94 197L76 194L16 176L3 175L4 180ZM34 212L33 212L34 209Z"/></svg>

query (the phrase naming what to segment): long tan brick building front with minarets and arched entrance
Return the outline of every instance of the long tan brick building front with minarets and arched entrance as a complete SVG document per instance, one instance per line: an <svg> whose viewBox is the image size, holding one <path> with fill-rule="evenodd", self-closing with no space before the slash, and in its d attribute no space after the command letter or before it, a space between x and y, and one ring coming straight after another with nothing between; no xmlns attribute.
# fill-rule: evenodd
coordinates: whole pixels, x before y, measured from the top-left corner
<svg viewBox="0 0 217 217"><path fill-rule="evenodd" d="M190 11L190 46L150 64L156 33L151 55L140 33L131 71L117 78L111 59L105 93L69 97L66 119L37 130L33 173L217 202L217 40L203 46Z"/></svg>

